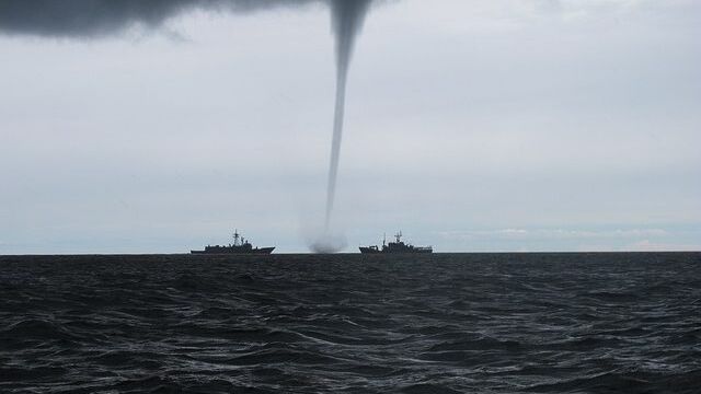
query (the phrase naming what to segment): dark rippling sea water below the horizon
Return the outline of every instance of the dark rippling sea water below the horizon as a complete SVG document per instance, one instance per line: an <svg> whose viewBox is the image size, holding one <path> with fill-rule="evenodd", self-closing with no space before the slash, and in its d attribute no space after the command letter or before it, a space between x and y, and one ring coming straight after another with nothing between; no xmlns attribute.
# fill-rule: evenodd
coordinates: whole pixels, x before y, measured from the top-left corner
<svg viewBox="0 0 701 394"><path fill-rule="evenodd" d="M0 392L701 393L701 254L5 256Z"/></svg>

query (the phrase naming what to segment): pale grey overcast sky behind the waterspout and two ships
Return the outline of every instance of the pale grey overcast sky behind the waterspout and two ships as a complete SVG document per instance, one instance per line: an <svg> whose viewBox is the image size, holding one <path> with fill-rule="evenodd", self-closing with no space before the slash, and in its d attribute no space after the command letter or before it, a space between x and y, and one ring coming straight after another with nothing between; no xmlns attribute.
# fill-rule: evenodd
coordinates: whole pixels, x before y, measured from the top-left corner
<svg viewBox="0 0 701 394"><path fill-rule="evenodd" d="M0 254L307 251L321 3L100 34L0 23ZM159 21L160 22L160 21ZM701 2L399 0L348 81L336 227L436 251L701 250Z"/></svg>

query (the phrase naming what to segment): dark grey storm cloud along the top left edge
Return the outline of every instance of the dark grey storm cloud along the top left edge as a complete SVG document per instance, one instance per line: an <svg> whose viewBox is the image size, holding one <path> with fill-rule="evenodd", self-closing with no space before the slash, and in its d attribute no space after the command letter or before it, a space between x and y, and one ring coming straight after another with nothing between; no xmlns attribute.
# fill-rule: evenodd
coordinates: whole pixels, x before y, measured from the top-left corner
<svg viewBox="0 0 701 394"><path fill-rule="evenodd" d="M332 0L0 0L0 33L101 37L131 26L159 27L192 10L251 12L327 1Z"/></svg>

